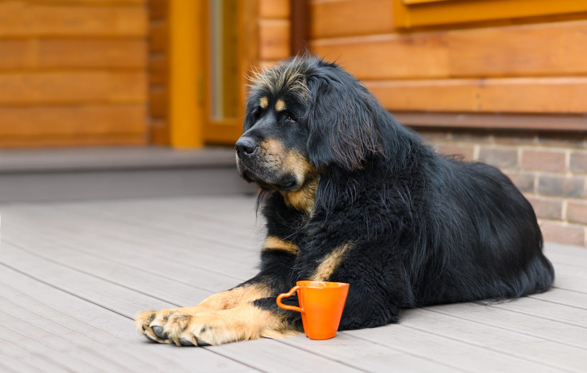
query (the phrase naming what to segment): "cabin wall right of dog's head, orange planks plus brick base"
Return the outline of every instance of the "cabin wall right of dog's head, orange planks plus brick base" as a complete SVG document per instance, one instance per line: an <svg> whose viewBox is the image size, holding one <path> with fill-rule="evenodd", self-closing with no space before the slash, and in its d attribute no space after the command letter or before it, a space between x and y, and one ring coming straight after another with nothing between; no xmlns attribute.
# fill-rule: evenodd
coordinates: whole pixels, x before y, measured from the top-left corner
<svg viewBox="0 0 587 373"><path fill-rule="evenodd" d="M546 240L587 246L587 3L310 7L313 53L345 66L440 152L500 167Z"/></svg>

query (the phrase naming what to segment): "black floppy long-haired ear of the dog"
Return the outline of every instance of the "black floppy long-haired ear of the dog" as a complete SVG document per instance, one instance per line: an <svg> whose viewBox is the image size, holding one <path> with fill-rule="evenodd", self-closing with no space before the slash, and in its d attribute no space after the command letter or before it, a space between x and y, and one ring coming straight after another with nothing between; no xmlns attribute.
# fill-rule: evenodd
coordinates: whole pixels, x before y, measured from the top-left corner
<svg viewBox="0 0 587 373"><path fill-rule="evenodd" d="M319 66L306 84L311 92L306 113L310 162L318 169L334 164L347 170L361 167L379 148L375 98L335 64Z"/></svg>

